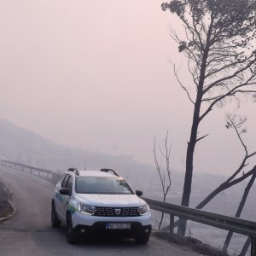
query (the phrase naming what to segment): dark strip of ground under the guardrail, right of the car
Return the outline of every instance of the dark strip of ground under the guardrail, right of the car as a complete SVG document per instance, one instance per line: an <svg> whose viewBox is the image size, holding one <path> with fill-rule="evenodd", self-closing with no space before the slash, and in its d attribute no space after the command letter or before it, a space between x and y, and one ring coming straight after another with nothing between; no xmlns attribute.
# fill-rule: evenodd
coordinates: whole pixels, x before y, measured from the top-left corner
<svg viewBox="0 0 256 256"><path fill-rule="evenodd" d="M183 247L185 250L191 250L193 252L200 253L201 255L229 256L229 254L222 253L217 248L211 247L193 237L180 237L176 234L162 231L154 231L152 235L159 239L169 241L174 246Z"/></svg>

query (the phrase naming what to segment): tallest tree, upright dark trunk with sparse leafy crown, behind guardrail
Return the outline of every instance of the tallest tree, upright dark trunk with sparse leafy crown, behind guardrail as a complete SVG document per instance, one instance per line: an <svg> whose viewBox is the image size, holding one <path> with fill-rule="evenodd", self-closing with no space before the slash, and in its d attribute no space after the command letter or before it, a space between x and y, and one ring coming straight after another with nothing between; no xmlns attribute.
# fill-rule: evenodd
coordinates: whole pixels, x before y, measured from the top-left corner
<svg viewBox="0 0 256 256"><path fill-rule="evenodd" d="M182 89L193 104L194 113L186 154L186 171L181 204L189 206L195 145L202 120L218 105L241 95L256 93L256 2L254 0L172 0L162 3L181 20L183 34L171 26L172 39L188 59L191 84ZM184 236L186 220L180 219L177 234Z"/></svg>

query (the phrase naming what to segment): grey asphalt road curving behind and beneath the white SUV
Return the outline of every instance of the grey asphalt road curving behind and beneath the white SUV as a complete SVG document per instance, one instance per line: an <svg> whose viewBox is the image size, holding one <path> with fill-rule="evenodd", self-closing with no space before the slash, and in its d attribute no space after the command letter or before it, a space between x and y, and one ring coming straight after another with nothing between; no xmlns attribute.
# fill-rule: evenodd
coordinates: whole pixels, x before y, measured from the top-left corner
<svg viewBox="0 0 256 256"><path fill-rule="evenodd" d="M16 214L0 224L0 255L173 255L198 256L151 236L147 245L137 245L132 239L84 241L70 245L66 230L50 226L50 200L54 185L0 166L0 178L9 183Z"/></svg>

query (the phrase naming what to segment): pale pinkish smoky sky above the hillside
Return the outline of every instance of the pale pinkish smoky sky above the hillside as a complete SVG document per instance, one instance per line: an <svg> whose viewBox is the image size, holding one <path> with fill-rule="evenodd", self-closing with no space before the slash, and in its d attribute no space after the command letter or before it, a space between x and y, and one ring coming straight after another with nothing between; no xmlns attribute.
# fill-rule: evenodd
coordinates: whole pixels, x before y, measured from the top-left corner
<svg viewBox="0 0 256 256"><path fill-rule="evenodd" d="M133 155L154 164L154 137L169 130L172 167L183 170L192 106L170 61L189 84L186 61L159 0L0 0L0 119L72 147ZM256 104L245 103L246 142L256 150ZM233 110L236 110L233 108ZM196 169L230 172L242 149L211 113ZM255 163L255 160L254 160Z"/></svg>

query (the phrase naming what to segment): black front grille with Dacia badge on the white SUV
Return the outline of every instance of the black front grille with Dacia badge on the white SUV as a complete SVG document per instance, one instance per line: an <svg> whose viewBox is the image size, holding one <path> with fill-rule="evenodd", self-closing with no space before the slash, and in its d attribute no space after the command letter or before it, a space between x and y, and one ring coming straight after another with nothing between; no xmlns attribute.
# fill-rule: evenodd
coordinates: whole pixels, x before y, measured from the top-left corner
<svg viewBox="0 0 256 256"><path fill-rule="evenodd" d="M96 207L95 216L106 217L136 217L137 207Z"/></svg>

